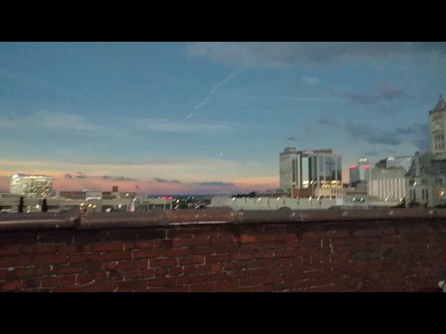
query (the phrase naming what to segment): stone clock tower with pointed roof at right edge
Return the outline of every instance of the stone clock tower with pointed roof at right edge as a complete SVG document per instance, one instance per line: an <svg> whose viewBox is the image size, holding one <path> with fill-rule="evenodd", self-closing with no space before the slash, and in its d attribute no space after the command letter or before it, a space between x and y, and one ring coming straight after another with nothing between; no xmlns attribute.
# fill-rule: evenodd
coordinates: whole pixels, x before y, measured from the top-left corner
<svg viewBox="0 0 446 334"><path fill-rule="evenodd" d="M429 111L429 135L433 159L446 160L445 148L446 103L440 95L436 106Z"/></svg>

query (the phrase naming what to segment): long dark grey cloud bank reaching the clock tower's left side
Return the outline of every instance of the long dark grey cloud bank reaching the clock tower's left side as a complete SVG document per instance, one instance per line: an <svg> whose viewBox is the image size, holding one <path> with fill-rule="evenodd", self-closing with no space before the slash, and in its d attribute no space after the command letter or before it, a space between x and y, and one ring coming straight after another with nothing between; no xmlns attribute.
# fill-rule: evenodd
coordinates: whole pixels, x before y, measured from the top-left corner
<svg viewBox="0 0 446 334"><path fill-rule="evenodd" d="M397 146L403 141L410 141L420 150L429 148L429 127L426 124L416 124L409 127L397 127L394 130L376 129L361 122L328 122L329 118L319 118L321 125L337 127L349 134L354 141L365 141L369 144Z"/></svg>

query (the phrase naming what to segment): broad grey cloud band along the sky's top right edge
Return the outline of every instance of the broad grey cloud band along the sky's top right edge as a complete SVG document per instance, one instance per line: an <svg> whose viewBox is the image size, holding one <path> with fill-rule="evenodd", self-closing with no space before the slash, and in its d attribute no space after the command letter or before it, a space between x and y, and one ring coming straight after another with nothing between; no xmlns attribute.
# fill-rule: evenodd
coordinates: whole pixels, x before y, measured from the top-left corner
<svg viewBox="0 0 446 334"><path fill-rule="evenodd" d="M381 65L395 57L432 65L443 61L443 42L193 42L187 56L238 66L277 67L363 61Z"/></svg>

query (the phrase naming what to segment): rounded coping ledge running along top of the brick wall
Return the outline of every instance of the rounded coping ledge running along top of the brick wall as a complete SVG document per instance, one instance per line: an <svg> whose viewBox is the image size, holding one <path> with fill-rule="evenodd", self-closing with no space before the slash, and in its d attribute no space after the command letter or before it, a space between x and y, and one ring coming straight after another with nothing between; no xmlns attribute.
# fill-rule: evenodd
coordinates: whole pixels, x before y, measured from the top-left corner
<svg viewBox="0 0 446 334"><path fill-rule="evenodd" d="M0 232L6 230L93 230L102 228L141 228L193 224L249 223L336 223L348 221L410 221L444 219L446 209L327 209L233 211L232 209L176 210L152 212L103 212L79 214L17 213L0 215Z"/></svg>

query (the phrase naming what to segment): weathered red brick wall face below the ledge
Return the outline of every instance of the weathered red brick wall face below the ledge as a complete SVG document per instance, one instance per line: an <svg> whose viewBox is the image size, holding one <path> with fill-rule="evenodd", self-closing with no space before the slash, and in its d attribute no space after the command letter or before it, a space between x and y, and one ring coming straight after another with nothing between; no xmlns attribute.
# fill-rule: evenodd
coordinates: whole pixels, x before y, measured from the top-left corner
<svg viewBox="0 0 446 334"><path fill-rule="evenodd" d="M444 221L0 233L0 292L404 292L445 279Z"/></svg>

